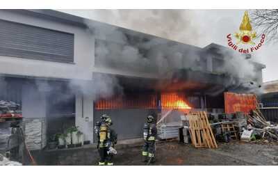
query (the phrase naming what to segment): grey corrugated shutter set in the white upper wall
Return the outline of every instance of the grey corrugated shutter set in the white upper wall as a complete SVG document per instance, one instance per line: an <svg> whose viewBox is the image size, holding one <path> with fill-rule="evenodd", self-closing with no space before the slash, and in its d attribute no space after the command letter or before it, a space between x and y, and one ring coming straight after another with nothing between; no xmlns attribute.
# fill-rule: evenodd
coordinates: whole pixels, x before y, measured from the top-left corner
<svg viewBox="0 0 278 174"><path fill-rule="evenodd" d="M74 34L0 19L0 55L74 62Z"/></svg>

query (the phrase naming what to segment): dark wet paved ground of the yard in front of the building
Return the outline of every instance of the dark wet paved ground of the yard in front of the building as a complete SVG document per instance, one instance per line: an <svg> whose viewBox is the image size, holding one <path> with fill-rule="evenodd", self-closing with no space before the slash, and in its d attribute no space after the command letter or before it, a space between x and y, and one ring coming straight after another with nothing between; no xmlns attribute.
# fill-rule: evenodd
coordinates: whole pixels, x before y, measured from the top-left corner
<svg viewBox="0 0 278 174"><path fill-rule="evenodd" d="M177 141L156 144L154 165L278 165L278 145L254 143L218 143L218 149L196 149ZM117 149L115 165L145 165L141 161L141 146ZM39 165L97 165L95 148L39 152Z"/></svg>

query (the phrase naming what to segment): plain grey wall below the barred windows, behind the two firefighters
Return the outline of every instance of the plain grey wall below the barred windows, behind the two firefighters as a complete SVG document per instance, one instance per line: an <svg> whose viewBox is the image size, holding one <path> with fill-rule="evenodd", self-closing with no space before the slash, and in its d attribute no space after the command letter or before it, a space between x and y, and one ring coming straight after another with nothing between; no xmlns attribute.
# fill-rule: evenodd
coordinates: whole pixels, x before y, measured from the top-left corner
<svg viewBox="0 0 278 174"><path fill-rule="evenodd" d="M142 129L147 116L150 113L157 113L157 111L154 109L95 110L94 125L104 113L111 116L113 122L112 128L117 132L117 139L122 140L142 138ZM96 136L94 136L94 141L96 142L96 140Z"/></svg>

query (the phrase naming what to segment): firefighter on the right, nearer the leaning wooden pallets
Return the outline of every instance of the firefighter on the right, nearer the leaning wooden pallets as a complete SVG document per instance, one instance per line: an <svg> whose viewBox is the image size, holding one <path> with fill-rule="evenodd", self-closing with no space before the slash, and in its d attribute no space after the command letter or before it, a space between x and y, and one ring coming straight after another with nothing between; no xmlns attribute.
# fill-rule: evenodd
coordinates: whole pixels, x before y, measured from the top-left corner
<svg viewBox="0 0 278 174"><path fill-rule="evenodd" d="M143 145L142 156L144 162L154 163L154 152L156 150L156 124L154 122L153 116L147 116L147 122L144 125L144 140L145 143Z"/></svg>

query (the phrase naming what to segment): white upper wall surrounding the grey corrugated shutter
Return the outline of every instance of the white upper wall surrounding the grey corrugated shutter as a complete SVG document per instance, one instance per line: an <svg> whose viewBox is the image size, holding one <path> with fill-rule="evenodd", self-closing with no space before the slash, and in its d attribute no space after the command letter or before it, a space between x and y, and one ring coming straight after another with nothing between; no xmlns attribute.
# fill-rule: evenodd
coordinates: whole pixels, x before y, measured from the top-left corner
<svg viewBox="0 0 278 174"><path fill-rule="evenodd" d="M92 79L92 69L95 62L95 39L85 29L29 15L19 15L6 10L0 10L0 19L74 33L74 64L0 56L0 74Z"/></svg>

